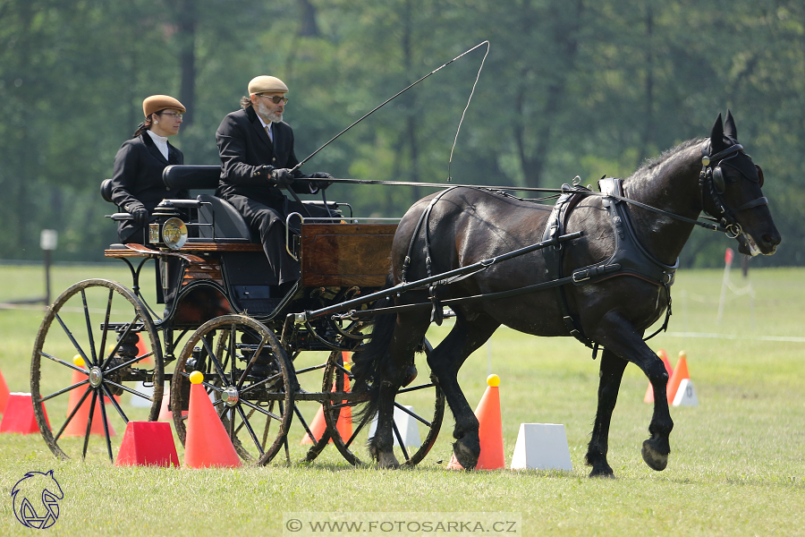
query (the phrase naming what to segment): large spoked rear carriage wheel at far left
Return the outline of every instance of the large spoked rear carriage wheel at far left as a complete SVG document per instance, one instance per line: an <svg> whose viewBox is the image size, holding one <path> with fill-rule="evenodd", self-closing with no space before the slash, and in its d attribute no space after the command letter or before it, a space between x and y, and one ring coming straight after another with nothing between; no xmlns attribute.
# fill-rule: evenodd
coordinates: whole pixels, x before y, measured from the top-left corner
<svg viewBox="0 0 805 537"><path fill-rule="evenodd" d="M31 356L30 393L55 456L114 460L129 420L157 420L164 383L157 329L129 289L89 279L47 309Z"/></svg>

